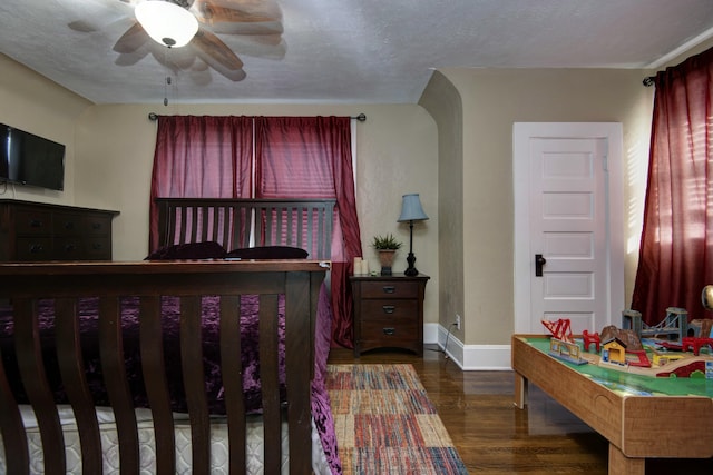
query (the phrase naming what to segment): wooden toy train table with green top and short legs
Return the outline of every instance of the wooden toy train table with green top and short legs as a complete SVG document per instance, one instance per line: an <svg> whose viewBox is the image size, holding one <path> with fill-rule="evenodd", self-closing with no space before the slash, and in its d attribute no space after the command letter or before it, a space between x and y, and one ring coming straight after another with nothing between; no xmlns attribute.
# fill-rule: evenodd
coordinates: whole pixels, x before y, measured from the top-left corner
<svg viewBox="0 0 713 475"><path fill-rule="evenodd" d="M713 457L713 379L570 363L544 335L514 335L511 348L516 406L537 385L608 441L611 475L644 475L646 458Z"/></svg>

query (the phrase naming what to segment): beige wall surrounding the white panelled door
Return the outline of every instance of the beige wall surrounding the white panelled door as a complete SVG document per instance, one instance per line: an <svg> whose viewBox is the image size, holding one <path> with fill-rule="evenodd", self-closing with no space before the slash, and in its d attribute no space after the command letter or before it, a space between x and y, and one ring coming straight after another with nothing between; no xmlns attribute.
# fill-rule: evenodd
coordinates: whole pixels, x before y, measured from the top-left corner
<svg viewBox="0 0 713 475"><path fill-rule="evenodd" d="M463 110L465 343L505 345L514 330L514 122L623 123L625 234L629 243L626 296L631 298L637 260L636 246L631 244L637 245L641 232L653 97L653 91L642 86L644 72L593 69L446 69L441 72L460 93ZM438 96L441 89L427 88L424 95ZM450 186L447 176L441 176L440 187Z"/></svg>

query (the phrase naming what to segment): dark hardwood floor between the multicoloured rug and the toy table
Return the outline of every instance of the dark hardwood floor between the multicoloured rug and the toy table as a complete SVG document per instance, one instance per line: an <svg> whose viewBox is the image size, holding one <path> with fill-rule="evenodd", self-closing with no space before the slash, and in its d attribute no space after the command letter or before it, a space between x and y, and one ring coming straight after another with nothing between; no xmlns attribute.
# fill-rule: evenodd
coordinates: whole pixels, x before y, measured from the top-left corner
<svg viewBox="0 0 713 475"><path fill-rule="evenodd" d="M375 350L355 359L334 348L329 363L413 365L470 474L607 473L607 442L537 387L524 410L515 407L511 372L462 372L436 346L423 358ZM647 461L646 474L711 475L713 459Z"/></svg>

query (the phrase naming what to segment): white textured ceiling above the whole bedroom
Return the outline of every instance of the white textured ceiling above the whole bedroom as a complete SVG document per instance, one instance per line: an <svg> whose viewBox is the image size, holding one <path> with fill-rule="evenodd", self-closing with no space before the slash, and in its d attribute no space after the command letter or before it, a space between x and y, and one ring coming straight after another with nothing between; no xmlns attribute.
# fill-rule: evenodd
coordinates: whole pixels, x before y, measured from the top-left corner
<svg viewBox="0 0 713 475"><path fill-rule="evenodd" d="M0 52L97 103L410 103L433 69L655 69L713 36L712 0L272 0L277 42L202 24L244 62L233 81L192 44L116 52L138 1L0 0ZM186 57L173 72L156 59Z"/></svg>

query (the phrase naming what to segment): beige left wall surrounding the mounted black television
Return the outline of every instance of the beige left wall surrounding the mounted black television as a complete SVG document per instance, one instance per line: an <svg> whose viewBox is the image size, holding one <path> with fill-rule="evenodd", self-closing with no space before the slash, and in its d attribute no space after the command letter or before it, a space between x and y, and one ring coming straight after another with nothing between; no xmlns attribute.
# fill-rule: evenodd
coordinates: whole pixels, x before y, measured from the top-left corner
<svg viewBox="0 0 713 475"><path fill-rule="evenodd" d="M0 122L66 146L65 190L0 185L0 199L75 205L75 122L91 102L0 53Z"/></svg>

